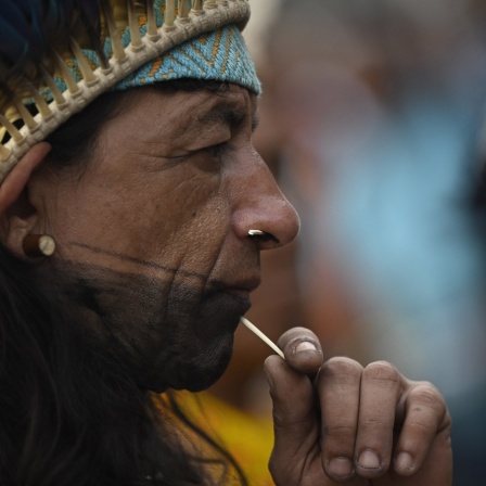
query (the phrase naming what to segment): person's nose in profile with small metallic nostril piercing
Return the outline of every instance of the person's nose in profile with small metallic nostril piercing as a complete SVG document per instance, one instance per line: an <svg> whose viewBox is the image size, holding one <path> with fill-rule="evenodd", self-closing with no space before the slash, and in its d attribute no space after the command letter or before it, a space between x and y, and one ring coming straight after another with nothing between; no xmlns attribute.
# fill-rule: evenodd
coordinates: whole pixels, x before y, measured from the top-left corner
<svg viewBox="0 0 486 486"><path fill-rule="evenodd" d="M278 248L295 239L300 221L266 164L255 155L256 162L241 167L234 181L232 227L238 238L251 239L259 250Z"/></svg>

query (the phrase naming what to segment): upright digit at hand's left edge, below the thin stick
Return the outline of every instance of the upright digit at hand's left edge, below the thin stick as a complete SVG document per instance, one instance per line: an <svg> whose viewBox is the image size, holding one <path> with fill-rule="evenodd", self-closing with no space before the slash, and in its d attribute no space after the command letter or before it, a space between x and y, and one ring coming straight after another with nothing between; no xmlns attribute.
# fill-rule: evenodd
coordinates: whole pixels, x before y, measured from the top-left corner
<svg viewBox="0 0 486 486"><path fill-rule="evenodd" d="M273 401L274 447L270 472L276 484L298 484L309 457L317 458L315 462L322 474L312 383L279 356L267 358L265 371Z"/></svg>

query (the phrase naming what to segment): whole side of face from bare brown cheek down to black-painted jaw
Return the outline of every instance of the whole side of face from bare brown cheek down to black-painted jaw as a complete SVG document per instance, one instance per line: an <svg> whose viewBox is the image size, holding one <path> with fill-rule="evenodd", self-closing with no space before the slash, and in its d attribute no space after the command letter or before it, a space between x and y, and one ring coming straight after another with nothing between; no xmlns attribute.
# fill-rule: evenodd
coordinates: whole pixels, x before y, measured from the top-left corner
<svg viewBox="0 0 486 486"><path fill-rule="evenodd" d="M248 305L205 293L228 253L230 206L215 178L145 182L60 200L53 261L82 325L139 383L195 389L226 368Z"/></svg>

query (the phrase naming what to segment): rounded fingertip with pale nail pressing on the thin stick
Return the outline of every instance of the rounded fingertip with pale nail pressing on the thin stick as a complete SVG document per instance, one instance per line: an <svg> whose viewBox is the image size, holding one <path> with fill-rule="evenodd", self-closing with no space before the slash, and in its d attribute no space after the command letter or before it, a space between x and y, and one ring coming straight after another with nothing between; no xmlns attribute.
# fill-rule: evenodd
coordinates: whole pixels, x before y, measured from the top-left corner
<svg viewBox="0 0 486 486"><path fill-rule="evenodd" d="M290 367L300 373L317 373L323 362L322 347L317 335L305 328L293 328L277 343Z"/></svg>

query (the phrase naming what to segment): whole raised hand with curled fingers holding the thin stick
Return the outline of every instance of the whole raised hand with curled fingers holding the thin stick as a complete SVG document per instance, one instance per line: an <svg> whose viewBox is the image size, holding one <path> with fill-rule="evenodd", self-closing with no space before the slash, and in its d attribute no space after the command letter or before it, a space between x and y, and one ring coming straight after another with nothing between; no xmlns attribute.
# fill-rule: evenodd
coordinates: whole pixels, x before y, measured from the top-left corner
<svg viewBox="0 0 486 486"><path fill-rule="evenodd" d="M323 361L304 328L278 342L265 370L273 400L277 486L450 486L451 420L444 398L392 364ZM311 376L311 378L309 378Z"/></svg>

